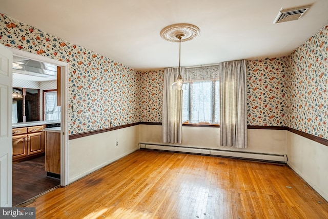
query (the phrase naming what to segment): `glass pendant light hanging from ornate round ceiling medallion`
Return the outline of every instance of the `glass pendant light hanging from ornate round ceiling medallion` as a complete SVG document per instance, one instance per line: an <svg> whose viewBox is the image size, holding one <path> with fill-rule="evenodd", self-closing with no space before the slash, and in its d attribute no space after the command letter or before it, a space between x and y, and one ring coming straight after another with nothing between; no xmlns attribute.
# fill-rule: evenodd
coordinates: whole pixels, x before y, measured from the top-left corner
<svg viewBox="0 0 328 219"><path fill-rule="evenodd" d="M169 42L179 42L179 74L176 82L172 84L172 90L182 90L183 78L181 75L181 42L191 41L199 34L199 28L191 24L174 24L163 28L160 36Z"/></svg>

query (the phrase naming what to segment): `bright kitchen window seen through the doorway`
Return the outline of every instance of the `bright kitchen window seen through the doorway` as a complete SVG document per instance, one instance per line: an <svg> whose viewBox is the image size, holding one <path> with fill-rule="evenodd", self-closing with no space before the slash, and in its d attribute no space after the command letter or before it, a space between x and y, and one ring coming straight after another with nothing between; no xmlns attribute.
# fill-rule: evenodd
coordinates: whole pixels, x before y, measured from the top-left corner
<svg viewBox="0 0 328 219"><path fill-rule="evenodd" d="M60 107L57 106L57 92L44 92L44 120L60 120Z"/></svg>

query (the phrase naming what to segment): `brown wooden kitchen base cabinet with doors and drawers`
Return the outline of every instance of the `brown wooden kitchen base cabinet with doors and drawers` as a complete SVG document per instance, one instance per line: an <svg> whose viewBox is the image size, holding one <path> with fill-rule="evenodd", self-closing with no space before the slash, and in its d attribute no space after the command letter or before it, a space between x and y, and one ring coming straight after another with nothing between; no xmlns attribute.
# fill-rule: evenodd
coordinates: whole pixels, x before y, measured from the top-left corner
<svg viewBox="0 0 328 219"><path fill-rule="evenodd" d="M31 126L12 129L12 160L23 161L45 152L46 126Z"/></svg>

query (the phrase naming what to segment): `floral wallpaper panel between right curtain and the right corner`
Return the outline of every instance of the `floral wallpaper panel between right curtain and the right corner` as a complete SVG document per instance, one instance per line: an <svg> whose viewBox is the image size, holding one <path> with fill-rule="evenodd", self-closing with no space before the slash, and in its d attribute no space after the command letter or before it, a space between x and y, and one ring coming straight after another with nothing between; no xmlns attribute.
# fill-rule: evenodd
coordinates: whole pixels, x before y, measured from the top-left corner
<svg viewBox="0 0 328 219"><path fill-rule="evenodd" d="M286 126L288 58L249 60L247 70L248 125Z"/></svg>

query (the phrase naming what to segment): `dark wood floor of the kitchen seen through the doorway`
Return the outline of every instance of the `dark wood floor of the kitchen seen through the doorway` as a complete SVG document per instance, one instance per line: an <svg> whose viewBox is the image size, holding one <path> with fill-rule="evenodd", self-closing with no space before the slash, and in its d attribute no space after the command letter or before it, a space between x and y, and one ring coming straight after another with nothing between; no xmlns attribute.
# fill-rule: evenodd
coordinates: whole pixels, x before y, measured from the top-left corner
<svg viewBox="0 0 328 219"><path fill-rule="evenodd" d="M12 205L16 206L60 184L60 181L47 177L45 156L12 165Z"/></svg>

